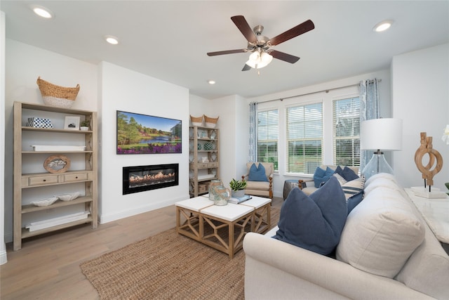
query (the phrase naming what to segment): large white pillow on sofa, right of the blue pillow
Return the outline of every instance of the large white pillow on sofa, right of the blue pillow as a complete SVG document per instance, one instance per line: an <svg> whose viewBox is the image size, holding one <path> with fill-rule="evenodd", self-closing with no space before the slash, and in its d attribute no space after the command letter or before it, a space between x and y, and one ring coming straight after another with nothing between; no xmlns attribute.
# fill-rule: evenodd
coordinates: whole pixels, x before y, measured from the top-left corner
<svg viewBox="0 0 449 300"><path fill-rule="evenodd" d="M348 215L337 259L394 278L424 240L424 231L399 191L377 188Z"/></svg>

